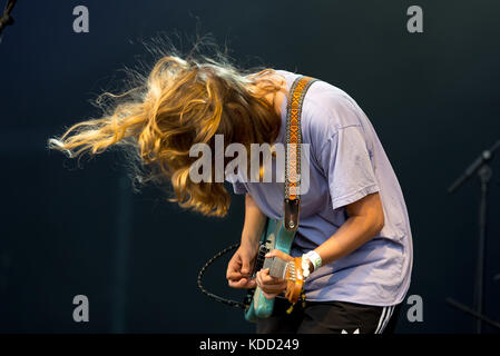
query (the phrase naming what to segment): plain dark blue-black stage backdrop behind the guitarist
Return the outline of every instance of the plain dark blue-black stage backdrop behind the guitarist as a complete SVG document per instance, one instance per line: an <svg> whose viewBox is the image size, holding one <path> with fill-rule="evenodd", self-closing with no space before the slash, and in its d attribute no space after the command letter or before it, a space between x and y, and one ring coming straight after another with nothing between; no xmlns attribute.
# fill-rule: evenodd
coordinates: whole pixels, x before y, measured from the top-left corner
<svg viewBox="0 0 500 356"><path fill-rule="evenodd" d="M89 9L89 33L72 31L78 4ZM423 33L406 31L412 4L423 9ZM20 0L13 16L0 44L0 332L253 332L239 309L196 287L205 260L239 239L242 196L224 219L204 218L164 202L155 187L133 194L118 152L79 169L46 149L47 138L99 113L89 102L97 95L119 91L119 69L137 63L143 40L193 36L196 26L227 42L242 66L317 77L360 103L411 218L409 296L422 297L424 313L410 323L403 304L398 330L474 330L444 299L472 305L479 184L452 196L447 188L500 136L499 1ZM492 167L499 171L498 159ZM484 287L497 320L498 198L492 185ZM243 297L224 273L217 263L206 286ZM89 323L72 320L79 294L89 298Z"/></svg>

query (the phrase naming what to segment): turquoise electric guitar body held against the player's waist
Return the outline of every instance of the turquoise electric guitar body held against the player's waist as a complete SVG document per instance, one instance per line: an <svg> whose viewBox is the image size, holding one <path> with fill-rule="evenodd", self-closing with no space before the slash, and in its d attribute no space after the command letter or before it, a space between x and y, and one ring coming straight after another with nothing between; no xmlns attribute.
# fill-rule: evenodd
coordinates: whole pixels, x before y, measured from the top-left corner
<svg viewBox="0 0 500 356"><path fill-rule="evenodd" d="M294 237L295 231L287 231L283 226L282 219L268 218L261 237L261 244L265 246L265 251L278 249L290 255ZM258 260L255 261L256 268L254 268L254 271L258 271L262 268L262 266L257 266L258 263ZM251 291L247 299L251 300L248 308L245 310L245 319L247 322L255 323L257 318L267 318L273 313L274 299L266 299L261 288L256 287Z"/></svg>

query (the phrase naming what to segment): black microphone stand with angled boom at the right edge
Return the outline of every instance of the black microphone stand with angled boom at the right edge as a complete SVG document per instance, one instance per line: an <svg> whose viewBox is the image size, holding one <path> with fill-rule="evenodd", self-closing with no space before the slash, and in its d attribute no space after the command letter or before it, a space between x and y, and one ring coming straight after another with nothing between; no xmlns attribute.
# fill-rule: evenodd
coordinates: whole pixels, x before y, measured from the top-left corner
<svg viewBox="0 0 500 356"><path fill-rule="evenodd" d="M493 158L494 151L500 148L500 140L494 142L490 149L486 149L482 154L465 169L465 171L448 188L448 194L457 191L469 178L473 175L478 175L481 182L481 199L479 205L479 238L478 238L478 257L476 269L476 287L474 287L474 309L461 305L453 299L448 298L447 303L451 306L459 308L477 318L476 332L481 334L482 323L490 322L488 317L482 314L483 310L483 281L484 281L484 251L487 241L487 212L488 212L488 188L490 185L491 176L493 174L490 162ZM488 323L500 329L498 323Z"/></svg>

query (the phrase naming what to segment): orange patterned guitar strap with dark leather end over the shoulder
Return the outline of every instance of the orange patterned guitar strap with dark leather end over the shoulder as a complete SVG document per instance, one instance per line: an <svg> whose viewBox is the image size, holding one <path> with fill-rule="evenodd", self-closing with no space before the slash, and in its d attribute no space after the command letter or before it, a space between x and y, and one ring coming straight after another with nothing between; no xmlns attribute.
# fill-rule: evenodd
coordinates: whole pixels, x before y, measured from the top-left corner
<svg viewBox="0 0 500 356"><path fill-rule="evenodd" d="M305 93L316 78L300 76L291 89L286 108L286 149L285 149L285 201L284 227L288 231L298 228L298 214L301 206L301 146L302 103Z"/></svg>

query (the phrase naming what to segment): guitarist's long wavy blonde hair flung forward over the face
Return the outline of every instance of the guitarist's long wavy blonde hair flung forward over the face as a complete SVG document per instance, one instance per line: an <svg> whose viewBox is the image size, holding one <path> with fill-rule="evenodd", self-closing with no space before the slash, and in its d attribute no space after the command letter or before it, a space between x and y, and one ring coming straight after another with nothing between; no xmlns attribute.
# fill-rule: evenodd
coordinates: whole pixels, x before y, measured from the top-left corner
<svg viewBox="0 0 500 356"><path fill-rule="evenodd" d="M223 182L190 180L189 167L197 158L189 157L189 149L204 142L214 152L216 134L224 135L225 145L241 142L248 152L251 144L274 142L281 118L274 105L263 99L280 90L264 78L274 70L238 69L222 52L208 57L192 51L182 58L170 48L164 55L131 89L98 98L98 102L102 98L114 102L102 117L71 126L50 138L48 148L76 158L119 146L134 161L134 182L169 181L170 201L203 215L225 216L229 194Z"/></svg>

